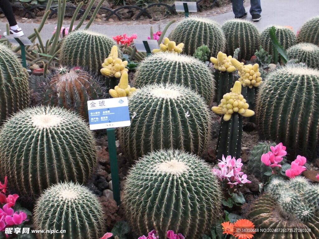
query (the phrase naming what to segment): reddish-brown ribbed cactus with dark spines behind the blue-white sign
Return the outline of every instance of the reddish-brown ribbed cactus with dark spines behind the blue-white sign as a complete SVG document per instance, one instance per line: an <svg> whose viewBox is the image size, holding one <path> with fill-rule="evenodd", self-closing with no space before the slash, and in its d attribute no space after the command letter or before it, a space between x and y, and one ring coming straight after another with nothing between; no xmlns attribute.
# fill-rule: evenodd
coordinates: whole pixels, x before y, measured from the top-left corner
<svg viewBox="0 0 319 239"><path fill-rule="evenodd" d="M50 77L43 104L70 109L88 118L87 101L102 97L100 86L88 72L80 68L61 67Z"/></svg>

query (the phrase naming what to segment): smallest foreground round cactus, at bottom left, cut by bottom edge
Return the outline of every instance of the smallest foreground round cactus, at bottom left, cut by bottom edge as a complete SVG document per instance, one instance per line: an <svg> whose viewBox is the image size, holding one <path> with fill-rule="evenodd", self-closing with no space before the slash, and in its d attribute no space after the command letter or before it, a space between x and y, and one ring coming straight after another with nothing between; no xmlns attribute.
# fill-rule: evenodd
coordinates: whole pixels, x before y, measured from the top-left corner
<svg viewBox="0 0 319 239"><path fill-rule="evenodd" d="M104 228L103 210L96 195L74 183L48 188L34 208L36 230L65 230L37 233L38 239L97 239Z"/></svg>

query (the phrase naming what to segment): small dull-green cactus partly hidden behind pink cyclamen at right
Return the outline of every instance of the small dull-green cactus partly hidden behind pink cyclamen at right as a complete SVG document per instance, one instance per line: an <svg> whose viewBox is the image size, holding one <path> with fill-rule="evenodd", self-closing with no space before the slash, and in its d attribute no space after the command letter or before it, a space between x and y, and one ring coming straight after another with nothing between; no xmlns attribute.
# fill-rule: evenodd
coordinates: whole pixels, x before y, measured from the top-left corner
<svg viewBox="0 0 319 239"><path fill-rule="evenodd" d="M248 158L247 164L249 172L262 181L265 181L267 178L269 178L269 176L264 175L265 172L269 171L269 166L266 166L263 162L261 162L261 156L271 151L270 146L275 147L276 143L259 142L252 148L252 150L250 150L250 155Z"/></svg>

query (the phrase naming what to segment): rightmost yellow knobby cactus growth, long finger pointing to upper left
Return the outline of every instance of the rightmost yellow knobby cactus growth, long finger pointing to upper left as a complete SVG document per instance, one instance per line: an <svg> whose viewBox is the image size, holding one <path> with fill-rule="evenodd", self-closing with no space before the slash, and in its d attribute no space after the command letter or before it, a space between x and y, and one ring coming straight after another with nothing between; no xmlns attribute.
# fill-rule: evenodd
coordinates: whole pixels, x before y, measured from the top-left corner
<svg viewBox="0 0 319 239"><path fill-rule="evenodd" d="M244 65L243 62L239 62L234 58L230 61L238 70L238 74L240 76L238 80L244 87L258 87L261 83L263 83L262 78L260 77L259 65L257 63L254 65Z"/></svg>

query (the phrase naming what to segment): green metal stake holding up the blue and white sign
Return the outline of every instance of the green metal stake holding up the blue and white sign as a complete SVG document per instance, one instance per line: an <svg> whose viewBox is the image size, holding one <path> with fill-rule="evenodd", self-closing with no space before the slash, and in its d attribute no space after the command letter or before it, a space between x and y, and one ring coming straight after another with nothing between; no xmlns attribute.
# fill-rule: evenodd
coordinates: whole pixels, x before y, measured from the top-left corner
<svg viewBox="0 0 319 239"><path fill-rule="evenodd" d="M110 128L110 129L107 129L106 132L108 135L108 153L110 156L110 165L111 165L113 199L116 201L117 205L120 205L121 203L120 180L119 180L119 171L118 171L117 156L116 156L115 129Z"/></svg>

